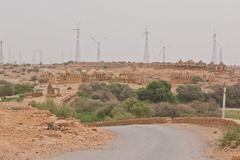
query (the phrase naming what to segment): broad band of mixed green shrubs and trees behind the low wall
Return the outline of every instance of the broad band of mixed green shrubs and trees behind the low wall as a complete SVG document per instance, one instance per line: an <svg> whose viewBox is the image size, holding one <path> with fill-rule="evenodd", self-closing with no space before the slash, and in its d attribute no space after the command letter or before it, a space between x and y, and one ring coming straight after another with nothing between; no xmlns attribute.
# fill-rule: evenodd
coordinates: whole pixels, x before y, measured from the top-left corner
<svg viewBox="0 0 240 160"><path fill-rule="evenodd" d="M154 81L137 90L126 84L90 83L79 87L76 100L69 106L58 106L53 101L31 105L50 110L59 118L75 117L82 122L221 116L220 92L204 92L197 84L180 85L176 91L176 94L171 92L171 85L164 81Z"/></svg>

